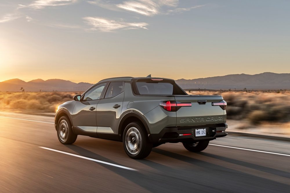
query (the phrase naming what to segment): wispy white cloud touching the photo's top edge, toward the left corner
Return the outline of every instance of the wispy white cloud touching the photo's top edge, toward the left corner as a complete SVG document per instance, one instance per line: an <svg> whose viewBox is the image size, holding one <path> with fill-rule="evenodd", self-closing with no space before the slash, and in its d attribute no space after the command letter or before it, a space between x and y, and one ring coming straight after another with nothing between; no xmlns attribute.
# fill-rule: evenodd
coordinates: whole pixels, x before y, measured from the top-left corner
<svg viewBox="0 0 290 193"><path fill-rule="evenodd" d="M43 9L47 6L60 6L75 3L77 0L36 0L27 7L34 9Z"/></svg>

